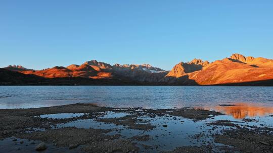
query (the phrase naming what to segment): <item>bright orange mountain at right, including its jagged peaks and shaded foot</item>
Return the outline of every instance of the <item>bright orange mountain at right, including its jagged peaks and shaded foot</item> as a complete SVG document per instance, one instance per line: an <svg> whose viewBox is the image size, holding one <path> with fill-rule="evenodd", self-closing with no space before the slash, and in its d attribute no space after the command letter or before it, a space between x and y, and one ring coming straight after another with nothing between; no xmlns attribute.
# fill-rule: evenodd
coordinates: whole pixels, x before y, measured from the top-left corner
<svg viewBox="0 0 273 153"><path fill-rule="evenodd" d="M273 79L273 60L245 57L240 54L216 60L192 72L187 73L185 68L187 66L183 62L179 63L165 78L168 78L169 82L181 84L194 82L196 85L232 84Z"/></svg>

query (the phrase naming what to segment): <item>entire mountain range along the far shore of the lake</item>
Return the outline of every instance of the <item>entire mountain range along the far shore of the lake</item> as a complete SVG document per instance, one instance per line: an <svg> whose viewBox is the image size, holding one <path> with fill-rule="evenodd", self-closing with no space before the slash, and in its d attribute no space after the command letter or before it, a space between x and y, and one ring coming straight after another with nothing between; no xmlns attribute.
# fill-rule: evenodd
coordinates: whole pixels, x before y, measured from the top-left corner
<svg viewBox="0 0 273 153"><path fill-rule="evenodd" d="M16 73L7 79L12 72ZM9 65L0 69L0 82L5 85L9 82L11 84L21 82L20 79L14 78L16 75L20 75L21 80L22 78L35 80L36 77L36 80L43 82L58 83L57 80L59 80L62 84L65 80L66 83L76 81L79 85L93 85L94 82L100 82L100 85L116 85L118 82L119 85L125 83L124 85L272 86L273 60L263 57L246 57L236 53L211 63L201 59L179 62L170 71L150 64L111 65L97 60L86 61L81 65L55 66L42 70ZM82 84L83 80L85 84Z"/></svg>

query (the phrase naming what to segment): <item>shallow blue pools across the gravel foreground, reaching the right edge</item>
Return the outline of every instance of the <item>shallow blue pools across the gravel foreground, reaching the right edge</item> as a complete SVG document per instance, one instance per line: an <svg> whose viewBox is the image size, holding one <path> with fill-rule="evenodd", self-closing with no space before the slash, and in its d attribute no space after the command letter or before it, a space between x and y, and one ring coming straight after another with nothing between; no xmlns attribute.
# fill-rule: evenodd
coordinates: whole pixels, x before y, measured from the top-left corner
<svg viewBox="0 0 273 153"><path fill-rule="evenodd" d="M120 118L129 113L116 113L107 112L106 115L100 118ZM251 121L244 121L242 119L235 119L229 115L213 116L211 118L195 121L183 117L177 116L155 116L149 117L146 115L137 117L138 122L135 124L151 124L156 127L151 130L139 130L131 129L128 126L116 125L114 123L105 123L96 121L96 119L78 119L65 124L58 124L57 128L61 127L77 127L77 128L101 128L101 129L113 129L113 131L107 133L110 135L121 134L123 138L131 138L133 136L150 135L148 140L140 141L134 140L138 143L140 148L144 145L153 148L153 151L159 150L171 150L178 146L187 145L203 145L203 144L217 144L214 142L212 134L219 133L223 129L236 128L233 126L221 126L221 125L209 125L208 123L218 120L230 120L232 123L240 126L273 126L273 117L252 117L248 119L255 119ZM163 126L164 125L164 126ZM213 127L217 127L215 130ZM157 151L156 151L157 150ZM152 151L152 152L153 152Z"/></svg>

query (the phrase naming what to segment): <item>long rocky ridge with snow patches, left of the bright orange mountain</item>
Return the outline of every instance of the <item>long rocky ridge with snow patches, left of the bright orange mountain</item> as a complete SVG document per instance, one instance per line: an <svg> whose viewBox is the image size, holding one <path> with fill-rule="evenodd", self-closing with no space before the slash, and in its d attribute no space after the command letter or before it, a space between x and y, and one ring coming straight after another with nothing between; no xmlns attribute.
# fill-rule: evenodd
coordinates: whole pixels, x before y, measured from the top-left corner
<svg viewBox="0 0 273 153"><path fill-rule="evenodd" d="M10 67L5 67L10 69ZM34 74L44 78L81 77L91 79L123 79L139 82L158 82L167 71L150 64L115 64L110 65L97 60L86 61L81 65L71 64L67 67L55 66L42 70L17 68L16 71L24 74Z"/></svg>

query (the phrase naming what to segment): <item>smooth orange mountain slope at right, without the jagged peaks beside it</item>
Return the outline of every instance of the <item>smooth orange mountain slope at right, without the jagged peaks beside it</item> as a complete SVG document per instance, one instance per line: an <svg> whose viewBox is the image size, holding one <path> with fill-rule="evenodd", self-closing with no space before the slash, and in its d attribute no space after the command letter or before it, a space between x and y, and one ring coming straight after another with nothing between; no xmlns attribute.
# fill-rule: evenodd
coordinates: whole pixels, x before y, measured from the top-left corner
<svg viewBox="0 0 273 153"><path fill-rule="evenodd" d="M273 66L257 67L225 58L200 71L189 73L188 76L199 85L253 82L273 79Z"/></svg>

